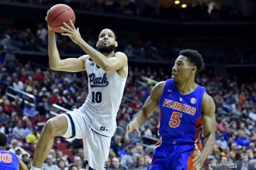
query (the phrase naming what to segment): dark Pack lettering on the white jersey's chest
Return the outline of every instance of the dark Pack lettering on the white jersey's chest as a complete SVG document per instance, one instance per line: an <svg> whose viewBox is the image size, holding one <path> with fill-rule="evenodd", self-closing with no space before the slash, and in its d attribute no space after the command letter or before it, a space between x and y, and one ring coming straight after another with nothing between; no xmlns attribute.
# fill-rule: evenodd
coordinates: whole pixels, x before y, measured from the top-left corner
<svg viewBox="0 0 256 170"><path fill-rule="evenodd" d="M103 77L96 77L95 73L89 75L90 87L104 87L109 84L107 81L107 74L103 74Z"/></svg>

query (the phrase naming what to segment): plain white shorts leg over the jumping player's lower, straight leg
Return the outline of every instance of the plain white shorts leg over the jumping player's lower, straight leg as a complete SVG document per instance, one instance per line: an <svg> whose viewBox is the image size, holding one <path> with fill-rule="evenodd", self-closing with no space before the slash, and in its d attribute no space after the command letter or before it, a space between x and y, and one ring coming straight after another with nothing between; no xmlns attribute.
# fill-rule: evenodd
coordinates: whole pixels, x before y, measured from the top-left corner
<svg viewBox="0 0 256 170"><path fill-rule="evenodd" d="M85 149L85 165L90 169L103 170L110 154L111 137L97 134L89 129L87 137L83 140Z"/></svg>

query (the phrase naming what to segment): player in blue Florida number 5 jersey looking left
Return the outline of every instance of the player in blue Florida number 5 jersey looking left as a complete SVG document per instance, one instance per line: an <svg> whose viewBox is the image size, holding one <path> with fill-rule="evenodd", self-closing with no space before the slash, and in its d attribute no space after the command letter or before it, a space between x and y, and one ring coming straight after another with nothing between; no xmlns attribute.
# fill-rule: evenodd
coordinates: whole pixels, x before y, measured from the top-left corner
<svg viewBox="0 0 256 170"><path fill-rule="evenodd" d="M172 79L161 81L151 91L142 109L127 125L129 132L142 126L159 108L159 135L151 170L201 169L215 142L215 103L206 89L195 83L203 69L196 50L182 50L172 68ZM199 135L203 125L203 149Z"/></svg>

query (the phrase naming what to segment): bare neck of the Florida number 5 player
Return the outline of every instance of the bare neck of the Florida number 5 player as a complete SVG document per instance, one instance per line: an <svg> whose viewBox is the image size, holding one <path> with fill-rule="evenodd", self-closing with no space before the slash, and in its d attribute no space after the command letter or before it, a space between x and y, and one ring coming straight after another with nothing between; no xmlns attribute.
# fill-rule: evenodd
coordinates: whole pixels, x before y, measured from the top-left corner
<svg viewBox="0 0 256 170"><path fill-rule="evenodd" d="M176 84L176 88L178 89L178 92L180 94L186 95L191 94L198 85L195 83L195 81L184 81Z"/></svg>

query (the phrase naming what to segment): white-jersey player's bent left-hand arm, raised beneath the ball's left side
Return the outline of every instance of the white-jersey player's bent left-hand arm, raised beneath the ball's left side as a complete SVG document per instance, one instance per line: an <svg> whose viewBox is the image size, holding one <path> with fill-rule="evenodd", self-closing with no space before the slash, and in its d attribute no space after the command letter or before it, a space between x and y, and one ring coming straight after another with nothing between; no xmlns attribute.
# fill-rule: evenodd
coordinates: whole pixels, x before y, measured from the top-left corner
<svg viewBox="0 0 256 170"><path fill-rule="evenodd" d="M46 17L47 21L47 17ZM48 56L50 69L64 72L80 72L85 70L85 61L88 55L82 55L79 58L60 59L56 45L55 32L48 26Z"/></svg>

